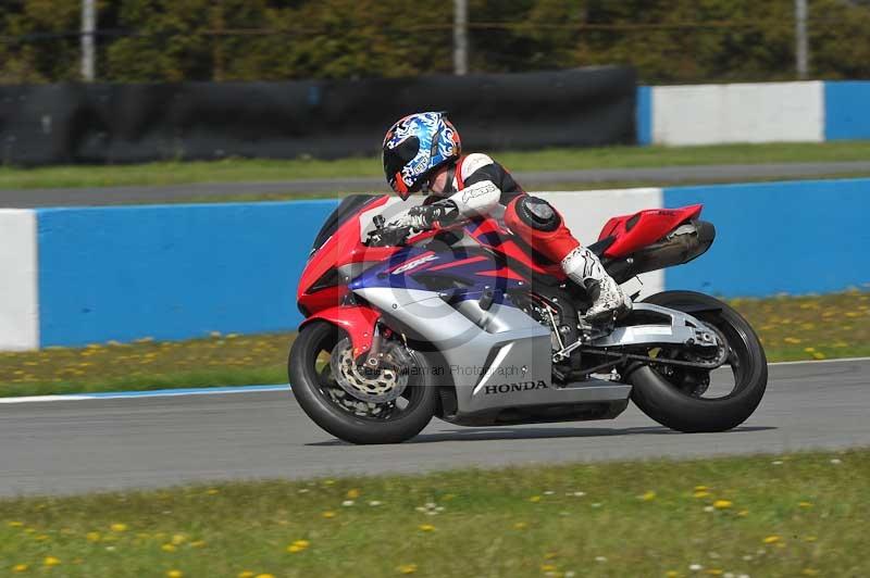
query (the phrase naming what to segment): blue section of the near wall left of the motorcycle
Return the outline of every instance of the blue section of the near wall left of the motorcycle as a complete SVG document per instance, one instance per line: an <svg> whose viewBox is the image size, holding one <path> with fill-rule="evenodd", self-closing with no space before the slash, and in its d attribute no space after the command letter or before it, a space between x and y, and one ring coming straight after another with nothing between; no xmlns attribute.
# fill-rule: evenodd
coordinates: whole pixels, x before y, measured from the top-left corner
<svg viewBox="0 0 870 578"><path fill-rule="evenodd" d="M40 342L294 329L337 201L38 211Z"/></svg>

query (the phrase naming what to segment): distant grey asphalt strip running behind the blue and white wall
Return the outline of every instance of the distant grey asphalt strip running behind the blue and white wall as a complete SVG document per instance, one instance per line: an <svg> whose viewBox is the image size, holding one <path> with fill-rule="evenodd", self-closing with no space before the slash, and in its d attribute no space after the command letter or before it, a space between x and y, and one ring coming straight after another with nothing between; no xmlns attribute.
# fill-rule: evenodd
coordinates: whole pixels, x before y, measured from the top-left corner
<svg viewBox="0 0 870 578"><path fill-rule="evenodd" d="M515 176L526 190L535 190L536 188L566 185L594 188L597 184L607 183L685 185L834 177L869 173L870 161L852 161L520 172ZM0 190L0 206L10 209L87 206L165 203L194 199L220 201L222 198L239 196L383 191L385 191L385 184L381 177L301 179L284 183L199 183L172 186L7 189Z"/></svg>

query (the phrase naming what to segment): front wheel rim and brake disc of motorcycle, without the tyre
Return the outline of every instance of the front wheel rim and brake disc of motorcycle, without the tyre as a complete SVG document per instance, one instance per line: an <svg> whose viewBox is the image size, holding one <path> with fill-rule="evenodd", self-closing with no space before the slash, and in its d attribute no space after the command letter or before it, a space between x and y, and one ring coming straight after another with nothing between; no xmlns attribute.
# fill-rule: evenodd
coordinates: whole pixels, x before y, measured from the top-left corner
<svg viewBox="0 0 870 578"><path fill-rule="evenodd" d="M313 349L313 367L310 369L312 375L316 376L318 394L332 407L357 419L395 422L412 412L424 399L422 389L424 386L421 384L423 373L415 352L407 352L409 364L401 370L388 369L390 375L385 378L373 376L366 369L347 366L346 352L350 350L347 338L339 339L337 335L326 335L314 344ZM352 357L350 363L353 363ZM351 394L347 382L345 387L339 382L347 381L346 378L350 375L353 376L350 388L381 381L382 389L366 397L360 394L364 393L363 387L356 391L359 395ZM391 387L389 387L390 380L395 381ZM384 381L387 386L384 386Z"/></svg>

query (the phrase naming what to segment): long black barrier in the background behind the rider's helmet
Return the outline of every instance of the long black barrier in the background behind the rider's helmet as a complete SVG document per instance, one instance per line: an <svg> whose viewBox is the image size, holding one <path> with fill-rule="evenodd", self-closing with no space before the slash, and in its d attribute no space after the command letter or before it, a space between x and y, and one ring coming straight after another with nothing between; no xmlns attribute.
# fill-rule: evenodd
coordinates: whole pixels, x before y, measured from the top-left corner
<svg viewBox="0 0 870 578"><path fill-rule="evenodd" d="M0 87L0 162L373 155L400 116L444 110L469 151L635 143L634 71L283 83Z"/></svg>

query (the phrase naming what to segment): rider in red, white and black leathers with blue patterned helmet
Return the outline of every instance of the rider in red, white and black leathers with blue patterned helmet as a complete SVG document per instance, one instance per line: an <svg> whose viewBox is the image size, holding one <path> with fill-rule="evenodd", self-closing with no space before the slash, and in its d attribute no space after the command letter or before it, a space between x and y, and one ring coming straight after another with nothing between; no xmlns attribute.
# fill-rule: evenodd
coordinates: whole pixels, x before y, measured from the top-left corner
<svg viewBox="0 0 870 578"><path fill-rule="evenodd" d="M383 161L387 181L402 200L417 191L431 193L390 226L423 231L457 218L494 217L538 253L560 263L568 277L587 291L593 304L586 319L612 318L631 310L631 300L598 257L581 247L556 209L523 191L486 154L462 155L459 133L444 113L412 114L394 124L384 138Z"/></svg>

